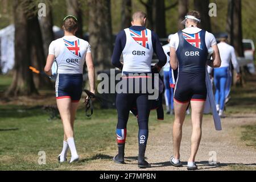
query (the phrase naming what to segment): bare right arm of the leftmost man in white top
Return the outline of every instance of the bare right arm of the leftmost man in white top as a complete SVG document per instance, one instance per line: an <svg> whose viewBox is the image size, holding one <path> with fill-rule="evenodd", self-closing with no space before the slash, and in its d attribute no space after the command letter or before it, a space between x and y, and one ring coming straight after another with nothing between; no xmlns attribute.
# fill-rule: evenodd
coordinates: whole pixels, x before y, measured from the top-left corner
<svg viewBox="0 0 256 182"><path fill-rule="evenodd" d="M88 78L89 78L89 84L90 84L90 92L95 93L95 72L94 72L94 65L92 60L92 53L88 52L86 53L85 57L86 66L88 69Z"/></svg>

